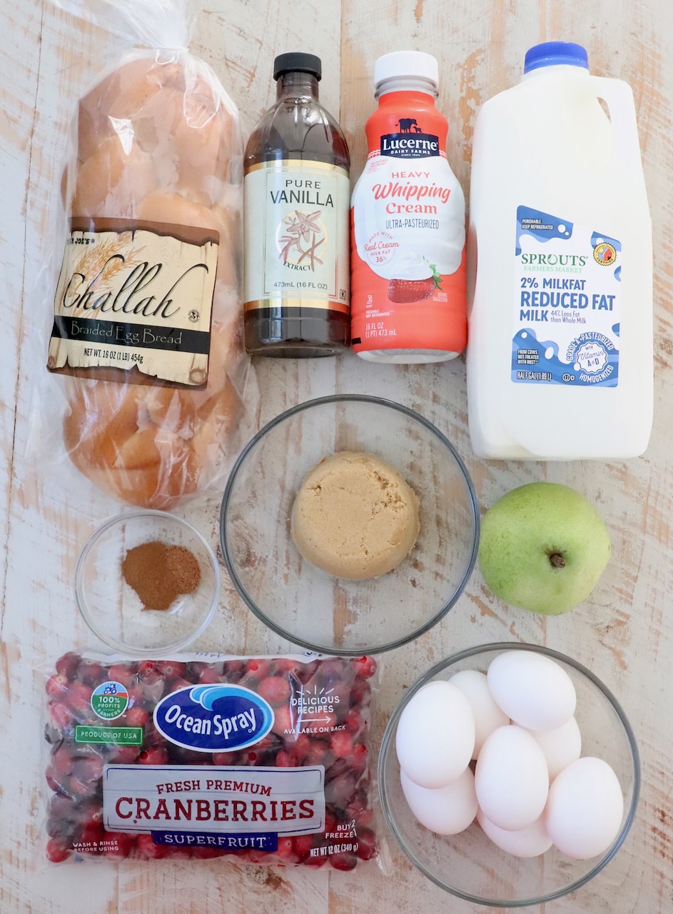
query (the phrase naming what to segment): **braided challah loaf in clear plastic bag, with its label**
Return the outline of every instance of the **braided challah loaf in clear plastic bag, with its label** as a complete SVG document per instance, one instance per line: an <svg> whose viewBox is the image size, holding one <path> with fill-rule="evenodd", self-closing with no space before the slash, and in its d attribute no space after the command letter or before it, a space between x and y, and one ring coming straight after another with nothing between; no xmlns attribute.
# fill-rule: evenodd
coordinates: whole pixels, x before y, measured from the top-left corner
<svg viewBox="0 0 673 914"><path fill-rule="evenodd" d="M108 7L62 5L94 19ZM181 47L187 6L114 6L155 46L79 101L47 365L65 376L70 460L121 501L167 509L214 487L256 422L239 295L243 140L215 73Z"/></svg>

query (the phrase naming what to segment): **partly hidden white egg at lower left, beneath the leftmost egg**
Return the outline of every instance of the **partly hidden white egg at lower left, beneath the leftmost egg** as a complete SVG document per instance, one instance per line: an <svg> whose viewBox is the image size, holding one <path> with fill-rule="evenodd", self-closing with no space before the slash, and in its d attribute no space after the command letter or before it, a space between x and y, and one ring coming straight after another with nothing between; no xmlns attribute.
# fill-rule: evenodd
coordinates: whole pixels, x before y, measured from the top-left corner
<svg viewBox="0 0 673 914"><path fill-rule="evenodd" d="M472 824L477 814L474 775L469 768L446 787L434 791L419 787L400 769L400 781L409 809L420 824L436 834L458 834Z"/></svg>

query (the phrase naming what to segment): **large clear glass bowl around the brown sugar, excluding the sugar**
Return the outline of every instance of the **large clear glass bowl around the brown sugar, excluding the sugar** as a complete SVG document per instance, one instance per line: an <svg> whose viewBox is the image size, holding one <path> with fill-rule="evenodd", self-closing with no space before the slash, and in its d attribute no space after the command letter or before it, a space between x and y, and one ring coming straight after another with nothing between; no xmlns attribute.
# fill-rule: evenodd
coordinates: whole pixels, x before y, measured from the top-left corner
<svg viewBox="0 0 673 914"><path fill-rule="evenodd" d="M290 535L304 476L339 451L375 454L419 499L414 549L379 578L332 578L301 558ZM477 557L478 504L453 445L412 409L325 397L284 412L247 444L226 484L220 537L234 585L274 632L315 651L378 653L426 632L454 605Z"/></svg>

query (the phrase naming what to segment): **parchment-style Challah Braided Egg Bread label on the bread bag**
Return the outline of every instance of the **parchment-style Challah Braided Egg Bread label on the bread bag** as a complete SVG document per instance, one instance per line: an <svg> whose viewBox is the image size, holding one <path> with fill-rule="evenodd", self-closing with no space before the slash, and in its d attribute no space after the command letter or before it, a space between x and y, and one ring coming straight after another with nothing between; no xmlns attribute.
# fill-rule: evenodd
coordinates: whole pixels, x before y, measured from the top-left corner
<svg viewBox="0 0 673 914"><path fill-rule="evenodd" d="M47 367L204 387L218 245L212 229L72 218Z"/></svg>

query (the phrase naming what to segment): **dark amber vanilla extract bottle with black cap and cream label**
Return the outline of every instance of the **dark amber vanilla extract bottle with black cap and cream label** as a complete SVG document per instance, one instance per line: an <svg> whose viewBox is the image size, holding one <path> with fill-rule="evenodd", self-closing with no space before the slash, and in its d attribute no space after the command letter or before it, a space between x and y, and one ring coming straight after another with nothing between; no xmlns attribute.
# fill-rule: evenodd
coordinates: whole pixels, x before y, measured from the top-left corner
<svg viewBox="0 0 673 914"><path fill-rule="evenodd" d="M333 356L351 335L348 146L318 101L320 58L281 54L273 76L245 156L246 348Z"/></svg>

